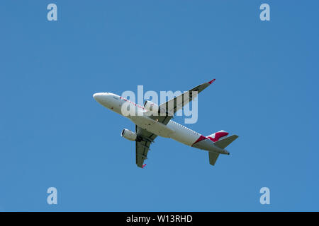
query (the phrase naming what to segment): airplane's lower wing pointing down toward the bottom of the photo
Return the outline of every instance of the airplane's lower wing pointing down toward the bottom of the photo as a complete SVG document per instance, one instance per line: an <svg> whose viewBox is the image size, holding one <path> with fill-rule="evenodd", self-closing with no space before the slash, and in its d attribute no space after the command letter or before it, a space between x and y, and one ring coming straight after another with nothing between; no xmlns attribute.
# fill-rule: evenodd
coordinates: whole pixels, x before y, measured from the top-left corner
<svg viewBox="0 0 319 226"><path fill-rule="evenodd" d="M144 167L144 160L147 159L147 153L150 149L150 144L154 139L157 137L154 133L150 133L149 131L146 131L145 129L140 128L139 126L135 125L135 133L142 138L141 141L135 141L136 145L136 165L138 167Z"/></svg>

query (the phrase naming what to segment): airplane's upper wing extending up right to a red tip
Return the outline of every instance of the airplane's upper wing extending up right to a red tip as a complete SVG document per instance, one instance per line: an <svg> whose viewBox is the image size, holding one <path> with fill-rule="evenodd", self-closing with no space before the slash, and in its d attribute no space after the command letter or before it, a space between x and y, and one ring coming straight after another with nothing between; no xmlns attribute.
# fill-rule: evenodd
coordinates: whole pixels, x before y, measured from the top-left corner
<svg viewBox="0 0 319 226"><path fill-rule="evenodd" d="M204 89L206 89L211 83L213 83L215 79L209 81L208 83L203 83L201 85L197 85L195 88L188 90L187 92L174 97L172 100L162 103L158 108L158 116L151 116L152 119L162 122L162 124L168 124L169 120L172 119L174 114L182 109L185 105L187 105L191 100L197 96L198 93L201 93ZM197 93L193 93L197 92ZM165 114L164 114L165 113ZM163 115L164 114L164 115Z"/></svg>

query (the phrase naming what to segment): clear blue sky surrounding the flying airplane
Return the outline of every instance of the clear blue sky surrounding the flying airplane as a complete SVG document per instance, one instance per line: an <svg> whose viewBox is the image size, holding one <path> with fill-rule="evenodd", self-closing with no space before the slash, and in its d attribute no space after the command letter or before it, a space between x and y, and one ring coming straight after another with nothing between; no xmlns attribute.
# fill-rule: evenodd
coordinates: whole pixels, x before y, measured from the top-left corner
<svg viewBox="0 0 319 226"><path fill-rule="evenodd" d="M270 21L259 20L262 3ZM318 211L318 7L1 1L0 210ZM240 136L215 167L205 151L160 137L136 167L135 144L120 136L133 123L92 97L213 78L186 126Z"/></svg>

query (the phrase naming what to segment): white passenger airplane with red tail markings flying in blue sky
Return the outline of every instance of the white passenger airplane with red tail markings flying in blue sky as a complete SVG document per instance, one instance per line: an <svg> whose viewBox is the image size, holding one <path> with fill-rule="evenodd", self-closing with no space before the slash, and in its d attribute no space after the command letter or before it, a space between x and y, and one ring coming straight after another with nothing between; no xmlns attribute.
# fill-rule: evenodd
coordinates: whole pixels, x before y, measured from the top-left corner
<svg viewBox="0 0 319 226"><path fill-rule="evenodd" d="M173 121L174 114L184 107L184 105L194 100L198 93L203 91L215 81L209 81L195 88L174 97L172 100L156 105L150 100L146 100L144 106L140 106L135 102L131 102L124 97L114 93L94 93L94 99L113 112L127 117L135 124L135 132L128 129L123 129L121 136L129 141L135 141L135 160L136 165L144 168L144 160L147 159L148 150L150 150L151 143L157 136L164 138L172 138L175 141L184 143L194 148L208 151L209 163L215 165L216 160L220 154L229 155L230 153L225 148L238 138L237 135L228 136L226 131L218 131L209 136L203 136L186 126L178 124ZM195 95L194 95L195 93ZM133 115L123 114L123 104L135 109L136 113ZM158 114L150 114L150 113Z"/></svg>

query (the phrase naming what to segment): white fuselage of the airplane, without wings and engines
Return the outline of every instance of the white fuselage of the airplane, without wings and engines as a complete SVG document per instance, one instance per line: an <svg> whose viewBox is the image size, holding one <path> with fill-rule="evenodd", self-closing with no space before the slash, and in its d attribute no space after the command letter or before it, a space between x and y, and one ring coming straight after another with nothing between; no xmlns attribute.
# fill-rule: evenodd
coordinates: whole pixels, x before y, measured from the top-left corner
<svg viewBox="0 0 319 226"><path fill-rule="evenodd" d="M196 131L193 131L186 126L183 126L181 124L178 124L175 121L170 120L167 125L162 124L159 121L156 121L154 119L151 119L148 116L145 116L145 112L147 110L137 105L134 102L130 102L130 100L126 100L123 97L120 97L113 93L96 93L94 94L94 99L99 102L104 107L111 109L113 112L116 112L118 114L123 115L124 117L127 117L131 121L133 121L134 124L137 126L140 126L140 128L145 129L151 133L156 134L157 136L162 136L165 138L172 138L175 141L179 141L180 143L184 143L186 145L192 146L198 139L203 137L200 133L197 133ZM123 114L123 104L127 102L125 107L130 106L130 109L135 109L135 114L133 115L125 115ZM197 147L196 147L197 148ZM199 147L198 147L199 148ZM212 144L209 145L208 148L200 148L205 150L213 150L218 151L220 148L217 148L215 145Z"/></svg>

